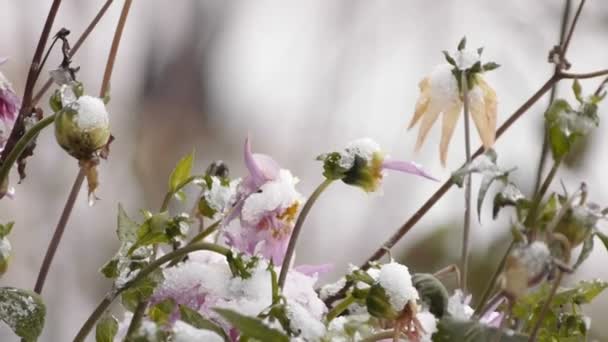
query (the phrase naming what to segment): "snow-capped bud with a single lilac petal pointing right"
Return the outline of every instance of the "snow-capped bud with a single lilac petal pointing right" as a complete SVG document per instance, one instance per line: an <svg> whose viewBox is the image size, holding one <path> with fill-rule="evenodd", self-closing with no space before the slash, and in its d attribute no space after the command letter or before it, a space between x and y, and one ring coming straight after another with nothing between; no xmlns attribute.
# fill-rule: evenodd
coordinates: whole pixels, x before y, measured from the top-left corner
<svg viewBox="0 0 608 342"><path fill-rule="evenodd" d="M378 190L385 170L395 170L436 180L415 162L395 160L384 155L380 145L370 138L350 142L343 151L320 155L323 175L358 186L366 192Z"/></svg>

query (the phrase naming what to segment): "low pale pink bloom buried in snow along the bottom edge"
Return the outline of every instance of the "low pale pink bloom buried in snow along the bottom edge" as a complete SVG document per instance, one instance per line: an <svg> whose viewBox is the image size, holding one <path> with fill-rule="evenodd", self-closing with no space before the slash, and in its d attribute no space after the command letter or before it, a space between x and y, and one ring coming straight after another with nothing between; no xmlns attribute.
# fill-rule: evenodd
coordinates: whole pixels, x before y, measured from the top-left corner
<svg viewBox="0 0 608 342"><path fill-rule="evenodd" d="M203 317L221 326L228 335L238 333L212 308L225 308L247 316L257 316L272 304L271 273L268 262L260 259L250 270L250 276L233 276L223 257L207 253L193 253L188 261L163 271L164 280L156 289L152 303L172 298L177 304L198 311ZM315 292L317 278L297 271L287 274L283 297L290 327L304 338L325 334L321 323L327 311ZM170 321L179 319L176 310Z"/></svg>

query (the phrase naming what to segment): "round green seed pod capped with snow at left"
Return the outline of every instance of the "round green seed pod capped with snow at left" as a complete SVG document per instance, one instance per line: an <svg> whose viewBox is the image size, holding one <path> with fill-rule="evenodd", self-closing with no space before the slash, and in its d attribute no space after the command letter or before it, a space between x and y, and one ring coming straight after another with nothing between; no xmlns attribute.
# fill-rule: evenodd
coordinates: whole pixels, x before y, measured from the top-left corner
<svg viewBox="0 0 608 342"><path fill-rule="evenodd" d="M59 145L78 160L91 159L110 139L108 112L103 101L81 96L65 106L55 118Z"/></svg>

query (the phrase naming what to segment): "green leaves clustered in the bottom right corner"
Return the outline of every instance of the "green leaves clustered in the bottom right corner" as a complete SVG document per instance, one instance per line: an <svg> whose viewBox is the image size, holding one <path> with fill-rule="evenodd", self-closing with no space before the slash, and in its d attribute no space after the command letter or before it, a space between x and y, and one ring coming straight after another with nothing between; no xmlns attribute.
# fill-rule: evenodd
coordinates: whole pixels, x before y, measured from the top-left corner
<svg viewBox="0 0 608 342"><path fill-rule="evenodd" d="M569 337L586 337L587 329L580 306L590 303L608 283L600 280L581 281L574 288L561 289L553 297L541 323L539 341L562 341ZM536 324L551 285L543 284L537 291L520 298L513 307L515 318L522 320L524 332ZM583 323L583 324L581 324Z"/></svg>

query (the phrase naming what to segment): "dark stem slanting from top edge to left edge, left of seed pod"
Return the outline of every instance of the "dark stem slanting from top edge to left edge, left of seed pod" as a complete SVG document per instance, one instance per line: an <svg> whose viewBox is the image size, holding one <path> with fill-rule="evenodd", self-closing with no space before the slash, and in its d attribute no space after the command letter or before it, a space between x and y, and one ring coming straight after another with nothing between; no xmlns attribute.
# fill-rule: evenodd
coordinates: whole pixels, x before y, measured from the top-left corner
<svg viewBox="0 0 608 342"><path fill-rule="evenodd" d="M2 151L2 155L0 156L0 163L2 164L5 163L6 159L8 158L8 155L15 147L15 144L21 139L21 136L25 133L24 119L26 116L30 115L32 111L32 93L34 91L34 86L36 85L36 80L38 79L38 71L42 68L40 62L42 59L42 55L44 54L46 42L49 39L51 28L53 27L53 22L55 21L55 17L57 16L57 12L59 11L60 5L61 0L53 0L53 3L51 4L51 8L49 10L49 14L46 17L46 22L44 23L44 27L42 28L40 39L38 39L38 45L36 46L36 51L34 52L34 57L32 58L32 64L30 64L30 70L27 74L27 79L25 81L25 90L23 91L21 109L19 110L19 115L15 120L13 129L11 130L11 134L8 140L6 141L4 150Z"/></svg>

